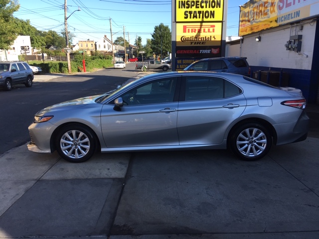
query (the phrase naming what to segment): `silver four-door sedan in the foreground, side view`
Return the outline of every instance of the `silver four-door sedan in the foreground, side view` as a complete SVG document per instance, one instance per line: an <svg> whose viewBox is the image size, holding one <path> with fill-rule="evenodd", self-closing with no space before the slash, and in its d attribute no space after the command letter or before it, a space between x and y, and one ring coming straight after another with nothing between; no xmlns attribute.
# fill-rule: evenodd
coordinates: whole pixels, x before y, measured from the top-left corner
<svg viewBox="0 0 319 239"><path fill-rule="evenodd" d="M34 152L70 162L102 152L231 149L244 160L272 143L307 138L306 100L295 88L212 72L166 72L103 95L45 108L28 127Z"/></svg>

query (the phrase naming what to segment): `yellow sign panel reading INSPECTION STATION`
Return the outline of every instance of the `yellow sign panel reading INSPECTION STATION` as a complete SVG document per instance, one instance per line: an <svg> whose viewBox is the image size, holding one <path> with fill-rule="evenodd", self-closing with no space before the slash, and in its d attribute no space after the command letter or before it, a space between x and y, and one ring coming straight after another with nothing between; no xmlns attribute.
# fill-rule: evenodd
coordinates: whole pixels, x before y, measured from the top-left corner
<svg viewBox="0 0 319 239"><path fill-rule="evenodd" d="M176 0L176 22L222 21L224 0Z"/></svg>

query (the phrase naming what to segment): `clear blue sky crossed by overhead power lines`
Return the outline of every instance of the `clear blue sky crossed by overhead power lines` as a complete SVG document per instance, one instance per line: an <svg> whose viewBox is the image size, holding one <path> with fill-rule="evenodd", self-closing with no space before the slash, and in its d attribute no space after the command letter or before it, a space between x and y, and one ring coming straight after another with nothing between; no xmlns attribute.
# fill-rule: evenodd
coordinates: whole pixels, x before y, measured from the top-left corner
<svg viewBox="0 0 319 239"><path fill-rule="evenodd" d="M228 0L226 36L238 36L239 5L248 0ZM30 20L40 31L64 31L65 0L18 0L20 8L13 16ZM171 3L174 0L67 0L68 31L73 44L79 40L101 39L107 35L113 41L124 35L134 44L137 36L142 44L152 38L154 27L163 23L171 29ZM80 11L76 11L81 9ZM72 14L72 15L71 15Z"/></svg>

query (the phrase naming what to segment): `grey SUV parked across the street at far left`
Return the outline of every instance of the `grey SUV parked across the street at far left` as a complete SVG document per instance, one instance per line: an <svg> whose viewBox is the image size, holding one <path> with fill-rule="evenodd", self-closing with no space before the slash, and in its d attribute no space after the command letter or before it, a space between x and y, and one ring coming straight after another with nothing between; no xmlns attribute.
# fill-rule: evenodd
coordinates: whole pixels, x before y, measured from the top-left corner
<svg viewBox="0 0 319 239"><path fill-rule="evenodd" d="M0 62L0 87L3 87L5 91L10 91L15 84L31 87L33 78L33 72L26 62Z"/></svg>

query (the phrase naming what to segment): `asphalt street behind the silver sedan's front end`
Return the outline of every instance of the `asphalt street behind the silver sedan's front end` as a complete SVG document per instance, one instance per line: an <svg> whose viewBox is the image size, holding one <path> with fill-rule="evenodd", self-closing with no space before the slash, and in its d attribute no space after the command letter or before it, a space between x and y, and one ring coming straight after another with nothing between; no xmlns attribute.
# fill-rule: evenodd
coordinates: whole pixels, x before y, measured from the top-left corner
<svg viewBox="0 0 319 239"><path fill-rule="evenodd" d="M128 63L126 69L109 68L63 77L56 74L57 78L54 75L35 75L31 88L15 85L9 92L0 89L0 154L29 141L27 127L39 110L108 92L139 73L135 70L135 63Z"/></svg>

